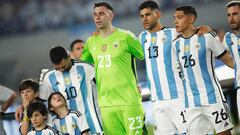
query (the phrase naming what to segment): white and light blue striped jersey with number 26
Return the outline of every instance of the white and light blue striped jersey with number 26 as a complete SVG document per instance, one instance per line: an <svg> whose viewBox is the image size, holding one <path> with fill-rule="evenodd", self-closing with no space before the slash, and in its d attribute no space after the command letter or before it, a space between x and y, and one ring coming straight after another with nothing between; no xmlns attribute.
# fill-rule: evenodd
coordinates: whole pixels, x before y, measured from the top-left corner
<svg viewBox="0 0 240 135"><path fill-rule="evenodd" d="M221 86L214 72L215 57L227 51L215 33L189 38L179 36L173 43L181 64L186 88L186 107L199 107L224 101Z"/></svg>

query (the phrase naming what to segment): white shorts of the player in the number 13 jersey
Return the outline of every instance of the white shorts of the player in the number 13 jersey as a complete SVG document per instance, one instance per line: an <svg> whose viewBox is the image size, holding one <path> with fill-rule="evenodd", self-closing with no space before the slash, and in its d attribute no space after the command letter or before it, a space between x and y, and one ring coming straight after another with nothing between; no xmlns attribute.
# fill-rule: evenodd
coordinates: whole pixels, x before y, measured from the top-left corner
<svg viewBox="0 0 240 135"><path fill-rule="evenodd" d="M184 101L172 99L153 102L153 117L156 135L186 133Z"/></svg>

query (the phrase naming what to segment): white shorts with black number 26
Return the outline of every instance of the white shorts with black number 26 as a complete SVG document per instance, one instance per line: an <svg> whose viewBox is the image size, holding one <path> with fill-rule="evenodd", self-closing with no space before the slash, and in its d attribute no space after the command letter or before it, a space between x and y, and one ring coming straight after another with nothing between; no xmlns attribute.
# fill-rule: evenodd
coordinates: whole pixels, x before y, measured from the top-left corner
<svg viewBox="0 0 240 135"><path fill-rule="evenodd" d="M187 108L186 120L189 135L213 134L214 129L220 133L233 128L225 103Z"/></svg>

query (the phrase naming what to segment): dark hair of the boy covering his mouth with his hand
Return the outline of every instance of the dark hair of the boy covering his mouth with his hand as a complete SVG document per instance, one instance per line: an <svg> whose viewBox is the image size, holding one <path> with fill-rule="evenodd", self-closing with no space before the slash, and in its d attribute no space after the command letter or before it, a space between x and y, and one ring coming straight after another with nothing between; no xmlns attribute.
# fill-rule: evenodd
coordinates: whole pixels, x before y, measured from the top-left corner
<svg viewBox="0 0 240 135"><path fill-rule="evenodd" d="M28 89L28 88L32 89L34 92L38 92L39 84L37 81L34 81L32 79L26 79L20 83L18 90L21 93L21 91Z"/></svg>

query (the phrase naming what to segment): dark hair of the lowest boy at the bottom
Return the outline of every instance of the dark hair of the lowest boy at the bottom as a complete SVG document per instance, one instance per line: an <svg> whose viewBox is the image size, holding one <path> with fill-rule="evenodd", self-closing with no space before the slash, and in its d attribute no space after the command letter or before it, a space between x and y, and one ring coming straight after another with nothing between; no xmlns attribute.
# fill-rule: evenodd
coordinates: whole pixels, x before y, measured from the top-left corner
<svg viewBox="0 0 240 135"><path fill-rule="evenodd" d="M48 115L47 107L43 103L33 102L30 103L29 106L27 107L28 118L31 118L32 114L36 111L40 112L43 116Z"/></svg>

